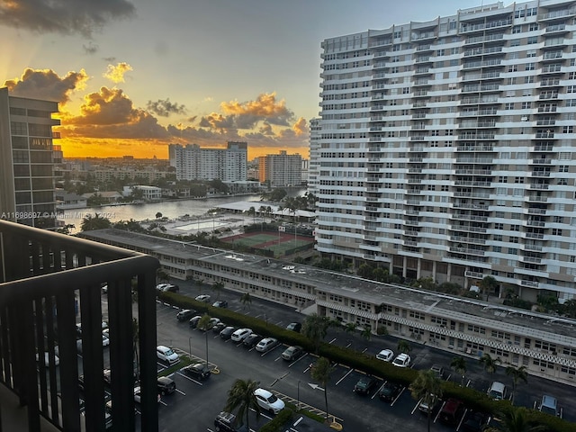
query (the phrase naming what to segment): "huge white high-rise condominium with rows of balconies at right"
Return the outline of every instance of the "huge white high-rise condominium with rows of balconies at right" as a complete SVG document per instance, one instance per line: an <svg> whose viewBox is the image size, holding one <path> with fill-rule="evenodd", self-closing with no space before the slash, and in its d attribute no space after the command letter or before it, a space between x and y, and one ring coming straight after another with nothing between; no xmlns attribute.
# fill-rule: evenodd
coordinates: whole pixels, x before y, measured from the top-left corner
<svg viewBox="0 0 576 432"><path fill-rule="evenodd" d="M318 250L572 299L575 20L485 4L324 40Z"/></svg>

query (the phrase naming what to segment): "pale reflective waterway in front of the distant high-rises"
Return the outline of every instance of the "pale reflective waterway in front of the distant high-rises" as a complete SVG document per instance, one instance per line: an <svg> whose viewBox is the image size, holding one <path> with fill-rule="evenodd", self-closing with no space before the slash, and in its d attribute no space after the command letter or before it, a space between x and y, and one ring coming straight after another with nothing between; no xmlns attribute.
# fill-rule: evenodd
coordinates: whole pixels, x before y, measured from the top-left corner
<svg viewBox="0 0 576 432"><path fill-rule="evenodd" d="M298 189L290 191L289 194L291 196L297 196L305 192L305 189ZM58 216L58 220L63 220L67 225L74 225L75 229L72 229L72 231L77 232L80 229L82 220L88 214L94 217L95 213L98 213L103 218L107 218L112 222L118 222L120 220L154 220L158 212L162 213L163 217L175 219L184 216L184 214L188 214L189 216L202 216L220 204L238 201L255 202L255 208L258 208L260 206L260 195L250 194L223 196L219 198L104 205L102 207L88 207L85 209L69 209L62 211L62 214Z"/></svg>

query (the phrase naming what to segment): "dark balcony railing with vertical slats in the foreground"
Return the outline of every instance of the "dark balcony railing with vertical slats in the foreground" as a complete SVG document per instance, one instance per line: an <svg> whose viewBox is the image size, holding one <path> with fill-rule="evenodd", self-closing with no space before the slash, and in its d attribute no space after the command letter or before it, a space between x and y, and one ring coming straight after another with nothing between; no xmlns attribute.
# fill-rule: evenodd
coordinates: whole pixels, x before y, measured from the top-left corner
<svg viewBox="0 0 576 432"><path fill-rule="evenodd" d="M22 424L1 423L9 408L0 401L0 431L106 428L101 284L107 284L113 429L136 430L134 383L139 376L140 430L157 432L157 258L0 220L0 263L0 380L26 412ZM132 285L138 295L137 320L132 319ZM76 323L82 327L81 358Z"/></svg>

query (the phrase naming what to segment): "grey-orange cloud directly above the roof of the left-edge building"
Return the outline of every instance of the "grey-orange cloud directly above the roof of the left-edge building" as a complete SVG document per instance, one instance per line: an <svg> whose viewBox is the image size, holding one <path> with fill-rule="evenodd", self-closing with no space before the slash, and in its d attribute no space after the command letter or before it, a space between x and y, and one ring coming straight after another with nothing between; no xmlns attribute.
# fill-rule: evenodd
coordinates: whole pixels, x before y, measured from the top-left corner
<svg viewBox="0 0 576 432"><path fill-rule="evenodd" d="M79 72L68 72L60 77L51 69L24 69L20 78L4 81L10 94L33 99L58 101L65 104L70 100L70 94L75 90L85 88L88 76L84 69Z"/></svg>

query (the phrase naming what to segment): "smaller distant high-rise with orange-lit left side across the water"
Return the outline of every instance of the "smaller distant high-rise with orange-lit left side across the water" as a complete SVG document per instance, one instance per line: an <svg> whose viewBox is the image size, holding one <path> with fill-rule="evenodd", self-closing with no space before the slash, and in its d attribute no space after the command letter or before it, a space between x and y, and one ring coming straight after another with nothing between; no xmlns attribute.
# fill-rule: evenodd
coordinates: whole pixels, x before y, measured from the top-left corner
<svg viewBox="0 0 576 432"><path fill-rule="evenodd" d="M258 157L260 183L269 182L272 187L302 184L302 156L288 155L280 150L278 155Z"/></svg>

